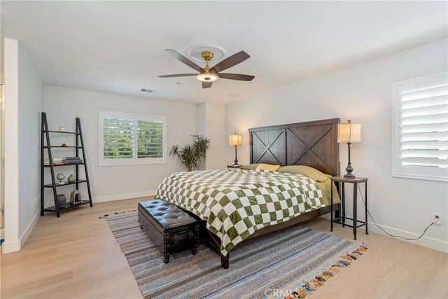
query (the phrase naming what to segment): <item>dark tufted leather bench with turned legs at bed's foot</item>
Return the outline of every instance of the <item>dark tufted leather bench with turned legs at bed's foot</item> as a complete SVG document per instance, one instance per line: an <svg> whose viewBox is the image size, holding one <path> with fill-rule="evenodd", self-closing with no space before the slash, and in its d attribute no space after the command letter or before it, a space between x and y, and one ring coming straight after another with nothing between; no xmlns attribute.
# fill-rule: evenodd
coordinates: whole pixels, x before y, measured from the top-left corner
<svg viewBox="0 0 448 299"><path fill-rule="evenodd" d="M199 246L199 221L165 200L139 202L139 223L151 240L163 251L163 261L169 254Z"/></svg>

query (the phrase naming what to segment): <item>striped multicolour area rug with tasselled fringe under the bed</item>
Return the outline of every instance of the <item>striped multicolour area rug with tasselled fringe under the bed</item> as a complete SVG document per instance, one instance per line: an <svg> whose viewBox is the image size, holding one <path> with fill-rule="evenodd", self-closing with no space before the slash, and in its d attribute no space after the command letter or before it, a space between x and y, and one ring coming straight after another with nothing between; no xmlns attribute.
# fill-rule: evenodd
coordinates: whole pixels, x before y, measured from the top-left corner
<svg viewBox="0 0 448 299"><path fill-rule="evenodd" d="M230 252L230 267L201 245L170 256L140 229L137 212L106 217L144 298L304 298L356 260L367 246L294 226L249 239Z"/></svg>

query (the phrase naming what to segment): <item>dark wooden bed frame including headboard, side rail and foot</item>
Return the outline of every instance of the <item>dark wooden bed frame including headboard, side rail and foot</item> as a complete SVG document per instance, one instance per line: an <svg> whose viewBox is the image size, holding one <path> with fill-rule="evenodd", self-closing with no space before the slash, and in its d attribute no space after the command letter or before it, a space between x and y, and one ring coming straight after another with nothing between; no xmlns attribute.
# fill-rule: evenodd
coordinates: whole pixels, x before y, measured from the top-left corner
<svg viewBox="0 0 448 299"><path fill-rule="evenodd" d="M250 162L273 165L307 165L325 174L339 175L339 146L337 144L337 124L339 118L316 120L305 123L274 125L249 129ZM333 205L339 211L339 204ZM301 214L289 221L268 226L255 231L250 238L297 225L311 218L330 213L330 206ZM221 265L229 267L229 253L219 250L220 239L203 225L204 242L221 256Z"/></svg>

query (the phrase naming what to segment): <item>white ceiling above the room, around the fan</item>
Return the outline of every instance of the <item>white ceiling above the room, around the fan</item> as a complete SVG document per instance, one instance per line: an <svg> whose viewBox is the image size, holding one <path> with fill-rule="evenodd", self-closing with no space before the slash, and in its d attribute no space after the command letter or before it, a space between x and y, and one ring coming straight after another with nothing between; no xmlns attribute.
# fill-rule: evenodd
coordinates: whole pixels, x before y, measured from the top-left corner
<svg viewBox="0 0 448 299"><path fill-rule="evenodd" d="M43 83L200 103L234 102L304 76L447 36L447 1L1 1L3 37ZM209 89L165 53L209 43L251 57ZM197 62L200 64L200 62ZM217 61L211 61L211 66ZM200 64L204 67L204 64ZM154 92L140 92L141 88Z"/></svg>

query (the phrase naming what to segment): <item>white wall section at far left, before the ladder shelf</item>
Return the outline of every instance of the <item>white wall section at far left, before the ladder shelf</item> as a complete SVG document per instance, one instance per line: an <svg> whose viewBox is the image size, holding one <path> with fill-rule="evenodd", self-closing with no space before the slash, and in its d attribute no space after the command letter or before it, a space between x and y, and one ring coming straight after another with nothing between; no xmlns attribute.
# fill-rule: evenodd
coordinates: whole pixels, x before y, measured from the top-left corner
<svg viewBox="0 0 448 299"><path fill-rule="evenodd" d="M39 113L42 83L25 48L4 40L5 59L5 243L19 250L36 224L40 190Z"/></svg>

